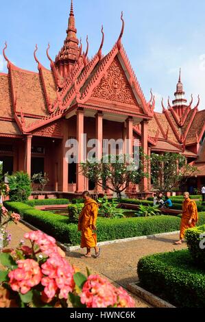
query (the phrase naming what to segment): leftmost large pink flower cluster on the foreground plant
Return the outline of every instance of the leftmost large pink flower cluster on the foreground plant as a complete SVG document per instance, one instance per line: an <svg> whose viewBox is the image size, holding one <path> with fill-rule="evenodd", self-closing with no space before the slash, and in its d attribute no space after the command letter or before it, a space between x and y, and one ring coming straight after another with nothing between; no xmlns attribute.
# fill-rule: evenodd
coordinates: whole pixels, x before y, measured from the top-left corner
<svg viewBox="0 0 205 322"><path fill-rule="evenodd" d="M12 290L25 294L40 283L42 273L35 260L18 260L17 263L18 269L14 269L8 274L10 286Z"/></svg>

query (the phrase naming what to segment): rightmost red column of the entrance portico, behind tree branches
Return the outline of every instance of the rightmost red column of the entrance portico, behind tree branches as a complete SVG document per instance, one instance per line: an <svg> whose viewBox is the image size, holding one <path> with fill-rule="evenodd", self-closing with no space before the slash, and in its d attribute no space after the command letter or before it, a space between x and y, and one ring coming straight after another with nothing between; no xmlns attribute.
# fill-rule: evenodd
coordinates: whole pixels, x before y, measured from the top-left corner
<svg viewBox="0 0 205 322"><path fill-rule="evenodd" d="M148 121L143 121L141 123L142 126L142 137L141 137L141 147L143 149L143 153L148 154ZM147 161L143 160L143 171L147 172ZM147 177L143 177L142 179L142 188L143 191L148 190L148 179Z"/></svg>

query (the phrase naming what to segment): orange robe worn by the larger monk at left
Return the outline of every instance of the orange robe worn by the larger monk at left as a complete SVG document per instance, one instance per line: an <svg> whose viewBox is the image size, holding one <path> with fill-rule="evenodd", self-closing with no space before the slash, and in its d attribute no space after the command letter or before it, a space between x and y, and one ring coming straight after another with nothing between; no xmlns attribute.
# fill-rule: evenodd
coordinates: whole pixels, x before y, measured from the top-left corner
<svg viewBox="0 0 205 322"><path fill-rule="evenodd" d="M96 225L98 206L93 199L86 200L84 205L78 221L78 230L82 232L80 247L93 248L97 246L97 235L93 234L92 225Z"/></svg>

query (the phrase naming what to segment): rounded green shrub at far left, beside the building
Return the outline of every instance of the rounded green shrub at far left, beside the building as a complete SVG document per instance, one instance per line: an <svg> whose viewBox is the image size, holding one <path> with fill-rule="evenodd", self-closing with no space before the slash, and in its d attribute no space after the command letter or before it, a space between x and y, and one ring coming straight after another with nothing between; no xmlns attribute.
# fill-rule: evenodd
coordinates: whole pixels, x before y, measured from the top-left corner
<svg viewBox="0 0 205 322"><path fill-rule="evenodd" d="M8 175L8 184L10 186L11 201L27 201L32 192L31 180L27 173L19 171L13 175Z"/></svg>

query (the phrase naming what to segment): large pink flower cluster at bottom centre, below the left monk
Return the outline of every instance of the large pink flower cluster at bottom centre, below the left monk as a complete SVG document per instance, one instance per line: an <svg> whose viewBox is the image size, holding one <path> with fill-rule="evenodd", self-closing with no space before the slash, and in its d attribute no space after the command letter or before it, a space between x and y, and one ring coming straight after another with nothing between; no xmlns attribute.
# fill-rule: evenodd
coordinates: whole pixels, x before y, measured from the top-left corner
<svg viewBox="0 0 205 322"><path fill-rule="evenodd" d="M80 295L87 308L107 308L117 303L115 288L99 275L90 275Z"/></svg>

